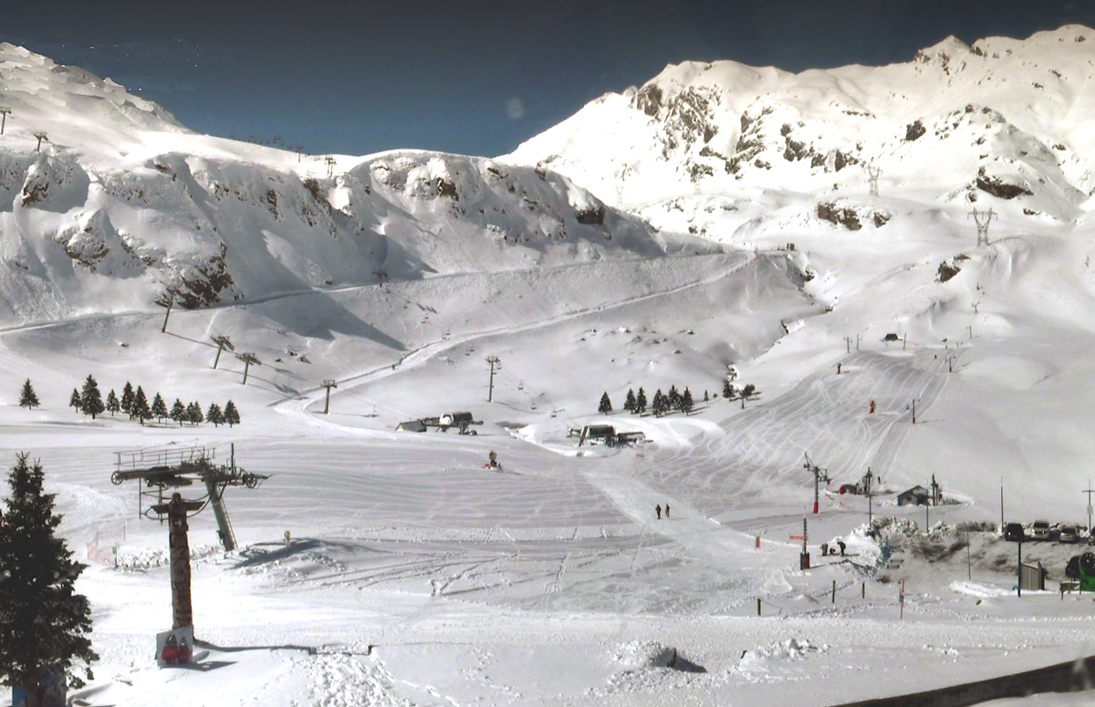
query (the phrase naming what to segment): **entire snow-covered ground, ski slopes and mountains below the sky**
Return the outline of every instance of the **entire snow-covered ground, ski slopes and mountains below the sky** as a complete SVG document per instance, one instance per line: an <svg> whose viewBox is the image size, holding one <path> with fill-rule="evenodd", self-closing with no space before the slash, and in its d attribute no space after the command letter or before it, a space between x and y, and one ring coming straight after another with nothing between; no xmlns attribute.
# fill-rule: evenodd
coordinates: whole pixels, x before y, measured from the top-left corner
<svg viewBox="0 0 1095 707"><path fill-rule="evenodd" d="M0 460L42 461L91 565L102 660L70 697L840 705L1090 654L1086 594L1016 596L995 528L1088 521L1091 34L797 76L683 65L530 141L523 166L401 151L331 177L105 83L23 100L78 74L3 48L31 68L0 138ZM43 123L35 153L20 120L84 94L91 127ZM552 154L573 181L537 166ZM984 239L972 207L993 209ZM170 285L218 303L166 324ZM220 336L261 363L218 358ZM231 399L242 424L91 419L67 405L89 374ZM724 399L728 376L757 393ZM671 386L691 413L620 409ZM475 436L395 430L454 410ZM579 445L597 424L645 440ZM166 534L111 472L120 450L212 447L270 478L228 489L242 549L191 519L209 642L201 670L160 670ZM817 514L807 459L830 478ZM837 492L866 472L875 496ZM945 502L898 506L932 480ZM837 538L848 555L822 554ZM1083 549L1022 556L1056 590ZM1031 704L1092 702L1070 697Z"/></svg>

